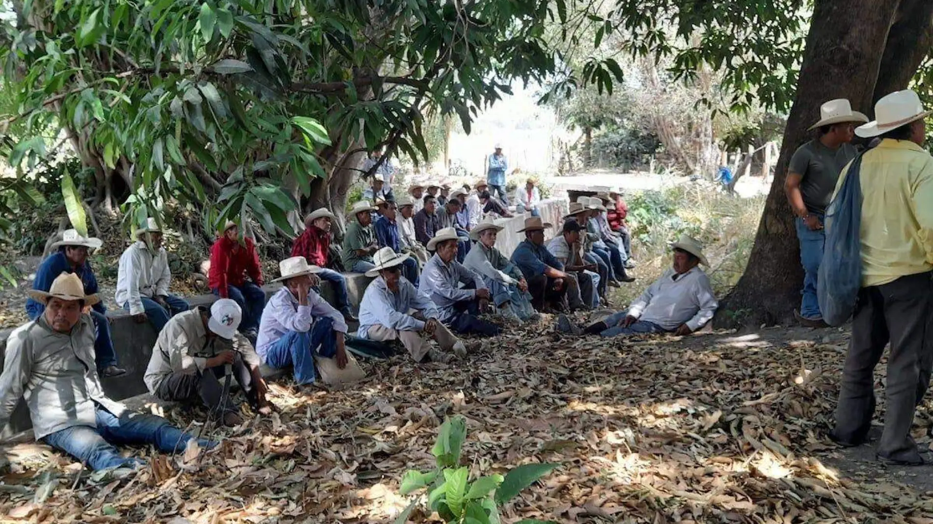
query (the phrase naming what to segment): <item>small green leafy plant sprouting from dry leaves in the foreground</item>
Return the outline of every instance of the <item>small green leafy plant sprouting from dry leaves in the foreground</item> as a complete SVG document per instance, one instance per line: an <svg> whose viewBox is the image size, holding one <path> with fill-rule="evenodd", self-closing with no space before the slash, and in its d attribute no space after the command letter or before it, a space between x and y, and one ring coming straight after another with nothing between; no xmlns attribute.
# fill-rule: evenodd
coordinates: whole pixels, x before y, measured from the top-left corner
<svg viewBox="0 0 933 524"><path fill-rule="evenodd" d="M460 466L460 450L466 440L466 419L456 416L440 426L438 442L431 449L437 458L434 471L421 473L409 470L402 476L399 491L408 495L425 490L427 505L445 522L499 524L498 507L514 498L536 480L550 473L559 464L529 463L511 469L506 476L498 474L469 480L469 468ZM396 524L408 522L421 497L409 504L396 519ZM517 524L545 524L541 520L524 519Z"/></svg>

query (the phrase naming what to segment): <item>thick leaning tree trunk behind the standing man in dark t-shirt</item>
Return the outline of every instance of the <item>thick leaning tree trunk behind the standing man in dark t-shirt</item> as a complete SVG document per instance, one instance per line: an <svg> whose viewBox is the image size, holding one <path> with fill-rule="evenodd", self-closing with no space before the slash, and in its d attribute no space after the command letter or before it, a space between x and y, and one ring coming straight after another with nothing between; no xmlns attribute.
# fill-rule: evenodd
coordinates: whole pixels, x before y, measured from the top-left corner
<svg viewBox="0 0 933 524"><path fill-rule="evenodd" d="M925 0L926 1L926 0ZM898 2L817 0L797 100L787 118L774 181L745 274L719 307L717 324L777 324L800 306L803 269L794 215L784 193L787 162L813 138L821 103L847 98L867 112ZM915 36L914 36L915 38Z"/></svg>

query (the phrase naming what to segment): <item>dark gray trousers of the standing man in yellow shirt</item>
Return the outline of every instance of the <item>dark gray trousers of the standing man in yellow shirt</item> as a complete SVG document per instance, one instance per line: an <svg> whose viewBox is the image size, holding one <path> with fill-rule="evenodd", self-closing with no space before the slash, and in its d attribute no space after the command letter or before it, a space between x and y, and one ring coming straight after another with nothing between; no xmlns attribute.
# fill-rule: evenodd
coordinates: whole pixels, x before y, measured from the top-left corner
<svg viewBox="0 0 933 524"><path fill-rule="evenodd" d="M890 342L884 433L877 453L897 461L921 459L911 425L933 367L931 275L918 273L859 290L832 432L837 440L858 445L867 439L875 408L874 368Z"/></svg>

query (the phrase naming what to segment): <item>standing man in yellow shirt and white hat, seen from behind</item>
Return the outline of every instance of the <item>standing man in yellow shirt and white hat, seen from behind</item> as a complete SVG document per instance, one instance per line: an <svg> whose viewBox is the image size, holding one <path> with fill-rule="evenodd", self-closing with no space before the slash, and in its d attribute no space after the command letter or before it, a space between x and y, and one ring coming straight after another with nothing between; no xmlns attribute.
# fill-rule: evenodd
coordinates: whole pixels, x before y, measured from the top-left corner
<svg viewBox="0 0 933 524"><path fill-rule="evenodd" d="M877 457L904 465L924 463L911 425L933 367L933 158L923 148L930 113L916 93L897 91L875 105L875 121L856 130L882 140L861 163L862 288L830 434L842 446L868 439L874 367L890 342ZM850 167L842 170L837 191Z"/></svg>

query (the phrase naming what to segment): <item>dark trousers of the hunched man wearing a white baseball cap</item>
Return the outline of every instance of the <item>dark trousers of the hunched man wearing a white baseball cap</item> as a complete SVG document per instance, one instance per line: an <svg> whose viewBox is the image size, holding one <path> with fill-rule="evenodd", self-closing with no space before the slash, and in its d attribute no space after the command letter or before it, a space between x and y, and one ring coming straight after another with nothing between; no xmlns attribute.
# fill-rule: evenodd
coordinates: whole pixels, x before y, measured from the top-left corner
<svg viewBox="0 0 933 524"><path fill-rule="evenodd" d="M235 379L240 387L246 393L246 398L256 397L256 388L253 387L253 374L243 361L240 353L233 353L233 364L230 365L232 379ZM230 392L224 397L224 382L226 381L226 365L208 367L203 373L193 373L187 375L184 373L173 373L159 384L156 390L156 397L161 400L174 402L197 402L201 399L204 407L207 407L215 416L219 416L228 411L238 411L230 400Z"/></svg>

